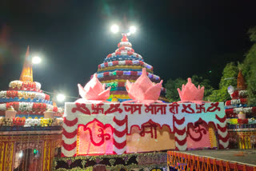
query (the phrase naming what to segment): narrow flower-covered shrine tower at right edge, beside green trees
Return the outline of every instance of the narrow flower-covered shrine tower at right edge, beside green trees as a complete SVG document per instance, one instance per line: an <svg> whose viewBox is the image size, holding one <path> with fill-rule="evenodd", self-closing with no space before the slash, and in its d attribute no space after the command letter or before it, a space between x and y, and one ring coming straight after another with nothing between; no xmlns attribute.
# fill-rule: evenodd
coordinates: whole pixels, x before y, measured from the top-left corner
<svg viewBox="0 0 256 171"><path fill-rule="evenodd" d="M230 148L256 148L256 107L247 105L247 90L242 71L238 73L237 88L229 87L232 99L226 101L225 112Z"/></svg>

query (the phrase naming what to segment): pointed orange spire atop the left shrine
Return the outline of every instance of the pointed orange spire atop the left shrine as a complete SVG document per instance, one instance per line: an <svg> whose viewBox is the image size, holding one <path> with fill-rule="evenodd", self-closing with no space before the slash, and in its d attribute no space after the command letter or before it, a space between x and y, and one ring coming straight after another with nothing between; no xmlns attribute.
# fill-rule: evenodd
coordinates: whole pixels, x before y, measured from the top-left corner
<svg viewBox="0 0 256 171"><path fill-rule="evenodd" d="M30 59L30 46L27 46L26 58L23 64L22 74L19 80L22 82L33 82L32 62Z"/></svg>

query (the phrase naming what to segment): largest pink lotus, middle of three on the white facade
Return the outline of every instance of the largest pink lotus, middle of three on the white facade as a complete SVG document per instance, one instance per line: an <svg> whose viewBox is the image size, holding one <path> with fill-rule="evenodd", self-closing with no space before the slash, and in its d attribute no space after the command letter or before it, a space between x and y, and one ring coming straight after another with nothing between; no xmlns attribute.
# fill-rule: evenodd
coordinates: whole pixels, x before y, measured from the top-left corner
<svg viewBox="0 0 256 171"><path fill-rule="evenodd" d="M161 92L162 81L158 84L154 84L150 81L150 78L146 75L146 68L142 69L142 75L134 83L126 81L126 90L132 101L127 102L141 102L146 105L150 105L158 101L158 97Z"/></svg>

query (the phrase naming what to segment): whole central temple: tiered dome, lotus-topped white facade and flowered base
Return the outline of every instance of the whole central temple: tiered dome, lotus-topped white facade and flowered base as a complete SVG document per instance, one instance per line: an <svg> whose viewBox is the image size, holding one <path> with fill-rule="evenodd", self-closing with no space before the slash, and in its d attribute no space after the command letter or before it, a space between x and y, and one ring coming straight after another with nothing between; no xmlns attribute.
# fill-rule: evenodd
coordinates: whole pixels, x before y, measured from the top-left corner
<svg viewBox="0 0 256 171"><path fill-rule="evenodd" d="M166 170L166 163L158 165L166 153L157 152L228 147L223 103L202 101L204 87L190 78L178 89L182 101L164 103L162 81L126 34L118 47L90 82L78 84L82 98L65 103L62 158L55 158L54 170Z"/></svg>

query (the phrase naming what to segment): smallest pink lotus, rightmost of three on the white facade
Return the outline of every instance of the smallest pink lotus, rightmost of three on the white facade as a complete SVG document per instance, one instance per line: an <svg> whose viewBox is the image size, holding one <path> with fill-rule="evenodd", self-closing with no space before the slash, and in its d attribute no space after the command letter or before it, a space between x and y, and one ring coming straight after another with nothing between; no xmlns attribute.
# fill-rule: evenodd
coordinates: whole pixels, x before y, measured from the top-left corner
<svg viewBox="0 0 256 171"><path fill-rule="evenodd" d="M182 85L182 91L178 88L178 94L182 101L179 102L194 102L198 104L202 104L202 98L205 87L200 88L198 85L198 89L191 82L191 78L187 79L186 85Z"/></svg>

